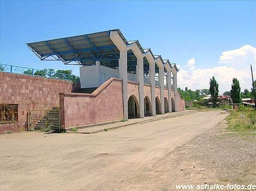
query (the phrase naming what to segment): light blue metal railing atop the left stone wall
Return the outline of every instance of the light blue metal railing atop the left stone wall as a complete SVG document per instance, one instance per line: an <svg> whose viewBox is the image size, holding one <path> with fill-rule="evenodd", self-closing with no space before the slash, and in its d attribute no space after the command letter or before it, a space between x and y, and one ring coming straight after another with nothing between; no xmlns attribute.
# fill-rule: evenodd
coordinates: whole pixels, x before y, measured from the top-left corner
<svg viewBox="0 0 256 191"><path fill-rule="evenodd" d="M58 73L53 71L52 69L39 70L35 68L25 68L21 66L13 66L13 65L2 64L2 63L0 63L0 71L15 73L15 74L25 74L25 75L31 75L31 76L54 78L54 79L60 79L60 80L76 81L76 82L80 80L78 76L75 76L73 74Z"/></svg>

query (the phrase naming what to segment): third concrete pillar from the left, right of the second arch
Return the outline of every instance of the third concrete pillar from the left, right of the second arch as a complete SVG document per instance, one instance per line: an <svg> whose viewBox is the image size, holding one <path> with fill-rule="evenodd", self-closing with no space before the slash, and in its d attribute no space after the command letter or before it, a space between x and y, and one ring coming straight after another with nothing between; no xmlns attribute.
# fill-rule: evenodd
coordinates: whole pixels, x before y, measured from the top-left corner
<svg viewBox="0 0 256 191"><path fill-rule="evenodd" d="M156 115L156 86L155 86L155 62L151 61L149 63L149 80L151 84L151 106L152 106L152 115Z"/></svg>

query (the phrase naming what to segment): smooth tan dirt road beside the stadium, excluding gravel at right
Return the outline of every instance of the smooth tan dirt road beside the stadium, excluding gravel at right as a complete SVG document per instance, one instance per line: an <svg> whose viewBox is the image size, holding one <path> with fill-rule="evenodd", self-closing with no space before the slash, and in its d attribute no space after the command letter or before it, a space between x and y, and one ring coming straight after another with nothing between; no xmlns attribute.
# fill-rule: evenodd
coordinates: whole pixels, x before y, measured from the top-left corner
<svg viewBox="0 0 256 191"><path fill-rule="evenodd" d="M97 134L1 135L0 190L174 190L161 186L157 169L225 117L207 111Z"/></svg>

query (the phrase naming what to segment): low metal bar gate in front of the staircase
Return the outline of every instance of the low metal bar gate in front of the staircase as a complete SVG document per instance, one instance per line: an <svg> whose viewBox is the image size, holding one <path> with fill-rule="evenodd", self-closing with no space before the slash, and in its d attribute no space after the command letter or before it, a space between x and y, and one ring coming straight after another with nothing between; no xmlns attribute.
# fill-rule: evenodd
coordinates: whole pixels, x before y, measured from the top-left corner
<svg viewBox="0 0 256 191"><path fill-rule="evenodd" d="M59 108L29 110L29 129L59 131Z"/></svg>

